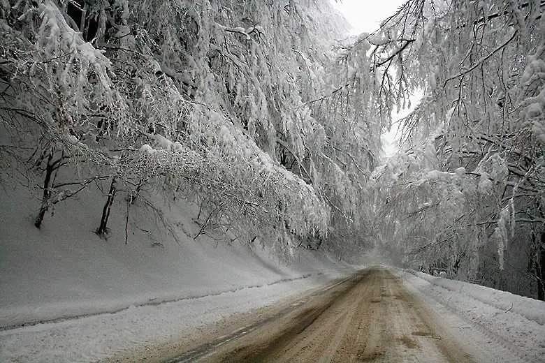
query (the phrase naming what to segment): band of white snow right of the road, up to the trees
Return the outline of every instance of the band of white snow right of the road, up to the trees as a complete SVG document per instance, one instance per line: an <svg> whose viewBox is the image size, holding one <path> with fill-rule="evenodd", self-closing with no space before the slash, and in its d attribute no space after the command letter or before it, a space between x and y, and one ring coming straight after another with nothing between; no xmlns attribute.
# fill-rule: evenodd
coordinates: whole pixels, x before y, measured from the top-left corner
<svg viewBox="0 0 545 363"><path fill-rule="evenodd" d="M502 362L545 362L545 302L412 270L398 270L398 275L409 290L438 303L434 310L442 311L445 320L455 315L471 323L475 329L458 323L451 328L459 328L458 336L474 346L477 355L479 344L494 344L502 356L517 357Z"/></svg>

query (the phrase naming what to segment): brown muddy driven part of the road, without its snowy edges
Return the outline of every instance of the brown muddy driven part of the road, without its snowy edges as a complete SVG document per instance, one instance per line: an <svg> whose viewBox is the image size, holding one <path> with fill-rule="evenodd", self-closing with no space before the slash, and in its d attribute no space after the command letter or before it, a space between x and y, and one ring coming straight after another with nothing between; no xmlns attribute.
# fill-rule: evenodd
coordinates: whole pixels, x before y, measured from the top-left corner
<svg viewBox="0 0 545 363"><path fill-rule="evenodd" d="M366 269L169 362L472 362L387 269Z"/></svg>

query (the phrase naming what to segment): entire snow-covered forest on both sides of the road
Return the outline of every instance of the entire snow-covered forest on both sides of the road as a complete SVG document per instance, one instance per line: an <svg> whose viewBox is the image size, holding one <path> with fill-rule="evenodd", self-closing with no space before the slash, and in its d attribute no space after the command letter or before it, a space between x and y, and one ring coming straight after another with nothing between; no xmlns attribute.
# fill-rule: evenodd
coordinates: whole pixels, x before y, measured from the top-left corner
<svg viewBox="0 0 545 363"><path fill-rule="evenodd" d="M408 0L347 37L329 0L2 0L0 183L36 228L98 189L97 239L127 248L133 209L172 230L160 197L198 205L194 239L378 249L543 300L544 9Z"/></svg>

